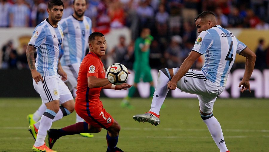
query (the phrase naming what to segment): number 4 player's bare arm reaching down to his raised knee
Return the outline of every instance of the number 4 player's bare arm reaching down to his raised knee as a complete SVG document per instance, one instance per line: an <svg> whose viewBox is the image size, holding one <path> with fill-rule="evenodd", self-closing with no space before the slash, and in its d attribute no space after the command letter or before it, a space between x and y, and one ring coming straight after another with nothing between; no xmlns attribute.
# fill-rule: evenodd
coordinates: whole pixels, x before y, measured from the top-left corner
<svg viewBox="0 0 269 152"><path fill-rule="evenodd" d="M172 77L171 81L167 83L167 89L175 90L178 81L188 72L192 64L201 56L198 52L191 51L189 56L181 64L178 72Z"/></svg>

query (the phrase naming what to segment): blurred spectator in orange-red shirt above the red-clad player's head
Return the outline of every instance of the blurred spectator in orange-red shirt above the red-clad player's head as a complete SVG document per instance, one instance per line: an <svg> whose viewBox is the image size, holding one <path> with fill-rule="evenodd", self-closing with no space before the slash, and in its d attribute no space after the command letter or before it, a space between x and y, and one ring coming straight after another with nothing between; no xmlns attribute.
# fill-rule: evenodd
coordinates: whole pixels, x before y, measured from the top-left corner
<svg viewBox="0 0 269 152"><path fill-rule="evenodd" d="M119 0L113 0L108 8L110 27L119 28L125 25L125 12Z"/></svg>

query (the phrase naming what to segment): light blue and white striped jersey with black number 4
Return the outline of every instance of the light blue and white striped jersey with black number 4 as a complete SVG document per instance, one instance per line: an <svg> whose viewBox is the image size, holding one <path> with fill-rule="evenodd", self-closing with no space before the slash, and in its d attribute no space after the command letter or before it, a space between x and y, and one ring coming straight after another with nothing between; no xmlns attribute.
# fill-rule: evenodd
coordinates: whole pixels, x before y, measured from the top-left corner
<svg viewBox="0 0 269 152"><path fill-rule="evenodd" d="M205 55L202 67L205 77L219 86L226 86L236 53L246 47L233 33L217 25L201 32L192 50Z"/></svg>

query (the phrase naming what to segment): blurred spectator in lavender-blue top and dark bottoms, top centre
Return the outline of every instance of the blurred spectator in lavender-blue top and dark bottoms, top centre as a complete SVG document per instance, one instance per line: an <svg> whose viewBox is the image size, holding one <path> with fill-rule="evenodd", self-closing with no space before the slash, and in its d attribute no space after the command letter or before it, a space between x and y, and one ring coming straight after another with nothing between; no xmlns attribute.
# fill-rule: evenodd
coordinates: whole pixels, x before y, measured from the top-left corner
<svg viewBox="0 0 269 152"><path fill-rule="evenodd" d="M154 9L149 5L149 0L140 0L140 5L137 8L137 14L139 17L139 31L143 27L147 27L150 30L154 25Z"/></svg>

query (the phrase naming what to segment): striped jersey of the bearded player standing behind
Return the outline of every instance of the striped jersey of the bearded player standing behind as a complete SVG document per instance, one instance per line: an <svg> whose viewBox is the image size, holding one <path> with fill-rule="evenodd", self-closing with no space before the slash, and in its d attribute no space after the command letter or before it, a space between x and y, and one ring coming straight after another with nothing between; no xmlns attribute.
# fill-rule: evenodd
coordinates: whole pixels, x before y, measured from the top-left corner
<svg viewBox="0 0 269 152"><path fill-rule="evenodd" d="M62 47L63 55L60 60L62 66L81 63L88 47L88 37L92 33L91 19L83 16L83 21L79 21L70 15L59 23L62 25L65 35Z"/></svg>

